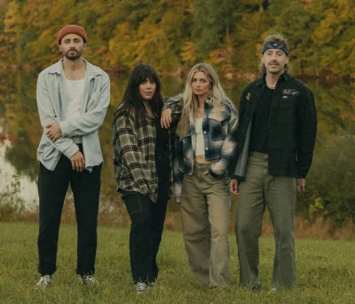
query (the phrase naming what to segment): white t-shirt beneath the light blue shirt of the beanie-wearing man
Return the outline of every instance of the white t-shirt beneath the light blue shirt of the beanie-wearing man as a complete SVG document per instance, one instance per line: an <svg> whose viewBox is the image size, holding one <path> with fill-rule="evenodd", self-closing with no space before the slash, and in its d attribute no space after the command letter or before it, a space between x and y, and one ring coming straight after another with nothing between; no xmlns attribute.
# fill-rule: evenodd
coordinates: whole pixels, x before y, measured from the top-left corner
<svg viewBox="0 0 355 304"><path fill-rule="evenodd" d="M85 92L86 75L79 80L67 79L67 111L65 120L70 120L80 116L83 104L83 96ZM72 138L75 143L81 143L82 137L75 136Z"/></svg>

